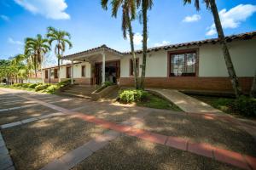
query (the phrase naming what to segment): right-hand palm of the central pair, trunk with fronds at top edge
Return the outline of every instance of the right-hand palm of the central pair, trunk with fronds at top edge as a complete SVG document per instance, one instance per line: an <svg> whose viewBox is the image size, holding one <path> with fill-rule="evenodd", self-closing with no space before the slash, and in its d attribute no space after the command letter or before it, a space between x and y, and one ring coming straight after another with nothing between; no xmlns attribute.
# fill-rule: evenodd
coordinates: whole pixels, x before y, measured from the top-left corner
<svg viewBox="0 0 256 170"><path fill-rule="evenodd" d="M143 65L142 65L142 76L141 76L141 87L144 88L144 79L146 75L146 61L147 61L147 50L148 50L148 9L153 6L153 0L137 0L137 5L142 4L142 15L143 15Z"/></svg>

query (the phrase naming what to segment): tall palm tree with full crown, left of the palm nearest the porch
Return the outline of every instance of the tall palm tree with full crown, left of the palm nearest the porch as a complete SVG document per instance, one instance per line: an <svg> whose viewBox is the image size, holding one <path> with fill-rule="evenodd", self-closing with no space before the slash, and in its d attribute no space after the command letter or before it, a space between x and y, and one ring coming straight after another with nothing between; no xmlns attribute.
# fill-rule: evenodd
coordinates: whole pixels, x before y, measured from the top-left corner
<svg viewBox="0 0 256 170"><path fill-rule="evenodd" d="M26 54L30 54L32 62L34 64L35 74L37 77L37 68L40 65L42 82L44 84L43 77L43 61L44 54L49 51L49 42L47 38L42 37L38 34L36 38L26 38Z"/></svg>

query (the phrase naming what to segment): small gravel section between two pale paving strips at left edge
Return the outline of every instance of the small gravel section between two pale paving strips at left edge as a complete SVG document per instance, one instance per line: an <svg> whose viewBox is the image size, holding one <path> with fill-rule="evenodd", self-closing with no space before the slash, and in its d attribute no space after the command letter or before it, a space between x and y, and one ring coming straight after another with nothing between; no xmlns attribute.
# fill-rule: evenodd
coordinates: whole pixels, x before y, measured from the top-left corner
<svg viewBox="0 0 256 170"><path fill-rule="evenodd" d="M43 116L49 113L55 113L57 111L49 109L44 105L35 105L28 108L21 108L14 111L2 111L0 112L0 124L6 124L9 122L17 122L23 119L32 118L35 116Z"/></svg>

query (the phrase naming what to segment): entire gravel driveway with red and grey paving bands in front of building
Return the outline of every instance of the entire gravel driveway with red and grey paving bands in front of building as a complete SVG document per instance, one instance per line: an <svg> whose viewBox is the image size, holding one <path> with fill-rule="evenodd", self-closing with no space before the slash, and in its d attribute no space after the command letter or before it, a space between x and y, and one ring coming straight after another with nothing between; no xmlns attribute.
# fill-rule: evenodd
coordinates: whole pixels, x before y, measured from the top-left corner
<svg viewBox="0 0 256 170"><path fill-rule="evenodd" d="M8 88L0 105L0 169L256 170L256 127L231 118Z"/></svg>

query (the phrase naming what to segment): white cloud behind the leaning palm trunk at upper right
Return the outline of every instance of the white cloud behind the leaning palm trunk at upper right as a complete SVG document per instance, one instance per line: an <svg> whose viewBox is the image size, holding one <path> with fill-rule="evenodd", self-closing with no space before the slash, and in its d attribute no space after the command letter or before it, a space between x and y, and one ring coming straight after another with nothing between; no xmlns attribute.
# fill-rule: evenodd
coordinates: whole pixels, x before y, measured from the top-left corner
<svg viewBox="0 0 256 170"><path fill-rule="evenodd" d="M240 4L237 5L234 8L230 8L229 11L227 9L222 9L218 12L221 24L224 29L227 28L237 28L240 26L242 21L247 20L250 16L253 15L253 13L256 12L256 5L251 4ZM212 36L217 33L215 25L212 24L212 26L207 28L207 36Z"/></svg>

